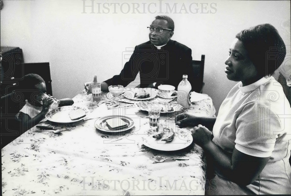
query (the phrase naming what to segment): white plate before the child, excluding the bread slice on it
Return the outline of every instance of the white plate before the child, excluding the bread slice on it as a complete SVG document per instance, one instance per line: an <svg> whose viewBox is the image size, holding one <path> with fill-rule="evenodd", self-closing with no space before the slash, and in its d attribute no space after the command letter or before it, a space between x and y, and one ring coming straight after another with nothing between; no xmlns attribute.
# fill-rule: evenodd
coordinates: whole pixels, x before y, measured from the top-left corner
<svg viewBox="0 0 291 196"><path fill-rule="evenodd" d="M86 115L89 113L89 110L87 108L82 108L79 106L63 106L63 107L58 107L55 110L50 110L45 115L45 118L49 121L56 122L56 123L73 123L73 122L83 120L86 116L77 120L70 119L69 112L72 110L77 110L77 109L84 110Z"/></svg>

